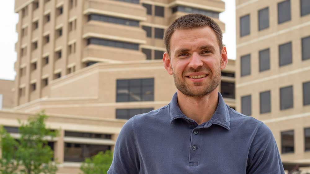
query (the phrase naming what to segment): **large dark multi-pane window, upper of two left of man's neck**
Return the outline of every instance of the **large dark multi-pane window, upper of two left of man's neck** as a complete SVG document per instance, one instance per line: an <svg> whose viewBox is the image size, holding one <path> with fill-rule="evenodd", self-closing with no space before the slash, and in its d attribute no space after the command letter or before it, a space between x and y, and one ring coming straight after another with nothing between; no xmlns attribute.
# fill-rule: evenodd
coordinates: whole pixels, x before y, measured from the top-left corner
<svg viewBox="0 0 310 174"><path fill-rule="evenodd" d="M153 101L154 79L117 80L116 91L116 102Z"/></svg>

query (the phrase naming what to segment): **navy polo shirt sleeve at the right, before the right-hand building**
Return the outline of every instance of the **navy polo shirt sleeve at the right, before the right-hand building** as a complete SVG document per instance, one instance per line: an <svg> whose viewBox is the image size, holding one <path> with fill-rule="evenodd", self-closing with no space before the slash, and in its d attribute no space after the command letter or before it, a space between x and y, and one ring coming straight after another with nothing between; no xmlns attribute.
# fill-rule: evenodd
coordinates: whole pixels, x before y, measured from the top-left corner
<svg viewBox="0 0 310 174"><path fill-rule="evenodd" d="M250 147L247 174L284 174L277 143L271 130L262 124Z"/></svg>

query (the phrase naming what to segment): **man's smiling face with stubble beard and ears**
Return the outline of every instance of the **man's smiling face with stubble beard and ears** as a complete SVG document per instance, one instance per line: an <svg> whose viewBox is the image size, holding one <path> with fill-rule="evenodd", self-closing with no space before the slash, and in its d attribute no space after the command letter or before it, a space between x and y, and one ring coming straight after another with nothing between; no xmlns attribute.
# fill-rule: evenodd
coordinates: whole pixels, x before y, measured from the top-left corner
<svg viewBox="0 0 310 174"><path fill-rule="evenodd" d="M170 72L166 70L173 74L175 86L184 95L201 98L221 82L221 70L227 64L223 50L227 60L226 48L219 50L210 27L176 30L170 40Z"/></svg>

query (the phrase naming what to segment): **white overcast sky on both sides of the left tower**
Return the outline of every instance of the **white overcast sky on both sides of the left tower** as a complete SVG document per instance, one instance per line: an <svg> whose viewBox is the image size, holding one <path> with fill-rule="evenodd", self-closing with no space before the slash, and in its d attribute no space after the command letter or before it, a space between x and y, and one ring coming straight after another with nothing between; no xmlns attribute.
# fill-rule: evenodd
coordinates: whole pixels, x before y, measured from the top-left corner
<svg viewBox="0 0 310 174"><path fill-rule="evenodd" d="M228 58L236 59L236 17L235 0L222 0L225 2L225 12L219 15L219 19L226 24L223 35L223 44L227 47ZM15 70L14 62L17 53L15 52L15 43L17 42L17 33L15 26L18 22L18 15L14 13L14 1L7 0L0 6L0 79L14 80Z"/></svg>

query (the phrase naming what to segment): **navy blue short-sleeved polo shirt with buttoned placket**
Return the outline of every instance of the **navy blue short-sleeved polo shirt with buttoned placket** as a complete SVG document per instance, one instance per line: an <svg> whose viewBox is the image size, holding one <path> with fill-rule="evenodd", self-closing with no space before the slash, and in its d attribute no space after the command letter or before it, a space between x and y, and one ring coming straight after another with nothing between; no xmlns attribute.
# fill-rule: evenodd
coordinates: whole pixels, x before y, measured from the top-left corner
<svg viewBox="0 0 310 174"><path fill-rule="evenodd" d="M201 125L181 112L177 93L168 105L129 119L108 174L284 174L271 130L229 108L220 93L218 99Z"/></svg>

